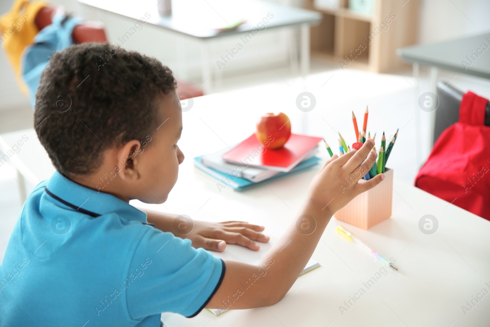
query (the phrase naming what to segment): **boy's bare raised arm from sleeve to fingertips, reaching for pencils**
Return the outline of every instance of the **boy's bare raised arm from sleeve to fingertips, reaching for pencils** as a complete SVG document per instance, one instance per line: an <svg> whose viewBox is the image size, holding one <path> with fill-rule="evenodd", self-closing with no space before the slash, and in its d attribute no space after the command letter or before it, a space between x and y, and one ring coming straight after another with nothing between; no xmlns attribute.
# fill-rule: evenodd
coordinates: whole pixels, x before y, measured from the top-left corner
<svg viewBox="0 0 490 327"><path fill-rule="evenodd" d="M358 151L335 155L325 163L310 184L307 201L260 264L224 260L227 269L221 286L206 307L245 309L269 306L281 300L315 251L332 215L383 180L383 174L368 181L362 179L376 159L376 153L371 152L373 146L369 139ZM315 224L308 232L297 224L305 216ZM244 290L244 281L254 286Z"/></svg>

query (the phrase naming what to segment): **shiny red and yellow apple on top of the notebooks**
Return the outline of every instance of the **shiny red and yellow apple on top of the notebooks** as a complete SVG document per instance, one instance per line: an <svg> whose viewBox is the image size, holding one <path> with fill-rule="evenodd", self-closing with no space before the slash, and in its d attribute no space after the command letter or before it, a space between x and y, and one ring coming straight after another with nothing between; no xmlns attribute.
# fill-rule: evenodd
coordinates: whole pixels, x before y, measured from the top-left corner
<svg viewBox="0 0 490 327"><path fill-rule="evenodd" d="M281 149L291 136L291 121L285 113L269 112L257 123L255 136L267 149Z"/></svg>

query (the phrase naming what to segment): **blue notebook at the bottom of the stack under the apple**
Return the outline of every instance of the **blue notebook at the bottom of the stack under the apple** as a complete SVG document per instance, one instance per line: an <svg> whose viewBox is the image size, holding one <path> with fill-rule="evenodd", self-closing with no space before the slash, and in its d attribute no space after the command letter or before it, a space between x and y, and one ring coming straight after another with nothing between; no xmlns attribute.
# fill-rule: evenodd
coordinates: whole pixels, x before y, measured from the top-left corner
<svg viewBox="0 0 490 327"><path fill-rule="evenodd" d="M270 178L264 179L265 181L275 179L281 176L293 174L302 170L305 170L307 168L310 168L312 166L315 166L321 159L319 157L312 157L310 159L304 160L300 162L296 167L294 167L289 173L279 173L277 175L274 175ZM195 157L194 158L194 166L202 170L203 172L207 173L208 175L214 177L217 179L223 186L230 186L231 188L241 191L246 188L249 188L250 186L253 185L258 185L262 184L261 182L254 183L248 179L245 178L240 178L240 177L234 177L233 175L230 174L225 174L221 173L220 171L217 171L213 168L209 168L207 166L204 166L201 163L201 156ZM224 188L224 187L223 187Z"/></svg>

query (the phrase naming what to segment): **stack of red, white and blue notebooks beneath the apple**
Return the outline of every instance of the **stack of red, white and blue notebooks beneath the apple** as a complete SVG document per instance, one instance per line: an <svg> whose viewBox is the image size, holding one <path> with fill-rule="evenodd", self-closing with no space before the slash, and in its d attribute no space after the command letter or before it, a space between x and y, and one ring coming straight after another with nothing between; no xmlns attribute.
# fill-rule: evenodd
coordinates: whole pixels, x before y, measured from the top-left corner
<svg viewBox="0 0 490 327"><path fill-rule="evenodd" d="M320 137L291 134L283 148L269 150L252 134L231 149L194 158L194 165L218 179L223 187L243 190L316 165L320 159L315 154L321 140Z"/></svg>

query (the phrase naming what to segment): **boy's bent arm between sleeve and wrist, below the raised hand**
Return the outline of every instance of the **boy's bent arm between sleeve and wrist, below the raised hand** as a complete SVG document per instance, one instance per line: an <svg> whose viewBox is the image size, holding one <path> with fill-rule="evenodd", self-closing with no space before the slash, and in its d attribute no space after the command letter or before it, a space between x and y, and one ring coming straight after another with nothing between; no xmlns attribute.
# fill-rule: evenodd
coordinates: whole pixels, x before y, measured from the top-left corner
<svg viewBox="0 0 490 327"><path fill-rule="evenodd" d="M245 309L269 306L281 300L305 268L332 217L328 207L322 210L323 207L324 204L306 202L259 265L225 261L223 282L207 307ZM301 221L302 218L309 221ZM301 229L301 224L310 224L315 229L310 233ZM249 286L252 284L253 287Z"/></svg>

